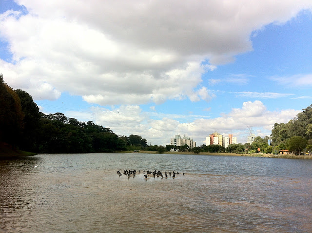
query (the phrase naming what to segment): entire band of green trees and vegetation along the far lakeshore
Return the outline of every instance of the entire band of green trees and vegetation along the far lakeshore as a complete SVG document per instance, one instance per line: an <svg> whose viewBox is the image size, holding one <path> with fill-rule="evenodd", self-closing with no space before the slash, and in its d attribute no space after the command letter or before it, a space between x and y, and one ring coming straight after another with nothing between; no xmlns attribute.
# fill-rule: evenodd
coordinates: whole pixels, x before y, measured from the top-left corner
<svg viewBox="0 0 312 233"><path fill-rule="evenodd" d="M271 139L272 145L268 145ZM253 143L201 145L147 145L138 135L118 136L110 128L92 121L81 122L62 113L45 115L25 91L13 90L0 75L0 156L36 153L107 153L144 151L151 154L201 154L311 158L312 105L288 123L275 123L271 136L256 137ZM171 150L178 152L171 152ZM280 150L292 155L277 155ZM29 151L32 153L26 153Z"/></svg>

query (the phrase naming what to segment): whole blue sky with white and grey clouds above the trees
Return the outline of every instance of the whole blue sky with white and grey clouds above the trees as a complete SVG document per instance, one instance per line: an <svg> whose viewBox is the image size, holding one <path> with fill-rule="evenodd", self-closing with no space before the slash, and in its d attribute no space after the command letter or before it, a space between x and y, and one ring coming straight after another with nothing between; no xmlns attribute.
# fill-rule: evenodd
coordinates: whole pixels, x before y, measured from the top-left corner
<svg viewBox="0 0 312 233"><path fill-rule="evenodd" d="M246 143L312 104L311 0L0 0L0 73L151 145Z"/></svg>

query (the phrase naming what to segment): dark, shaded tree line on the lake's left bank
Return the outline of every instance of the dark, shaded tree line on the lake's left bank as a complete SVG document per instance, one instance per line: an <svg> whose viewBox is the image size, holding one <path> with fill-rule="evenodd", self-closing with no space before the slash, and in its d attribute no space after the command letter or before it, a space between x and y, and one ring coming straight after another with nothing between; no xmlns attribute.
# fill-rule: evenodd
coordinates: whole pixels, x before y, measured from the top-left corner
<svg viewBox="0 0 312 233"><path fill-rule="evenodd" d="M62 113L45 115L27 92L13 90L0 75L0 142L36 153L114 152L147 147L138 135L117 136L92 121Z"/></svg>

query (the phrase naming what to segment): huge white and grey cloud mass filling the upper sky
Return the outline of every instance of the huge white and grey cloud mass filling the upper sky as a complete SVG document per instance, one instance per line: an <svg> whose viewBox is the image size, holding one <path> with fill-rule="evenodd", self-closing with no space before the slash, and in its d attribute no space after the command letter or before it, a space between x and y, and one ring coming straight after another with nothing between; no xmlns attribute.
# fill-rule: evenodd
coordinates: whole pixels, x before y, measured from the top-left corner
<svg viewBox="0 0 312 233"><path fill-rule="evenodd" d="M17 2L23 13L0 15L0 39L12 54L11 63L0 60L8 84L36 99L68 92L101 105L209 101L204 73L251 51L254 31L312 7L310 0Z"/></svg>

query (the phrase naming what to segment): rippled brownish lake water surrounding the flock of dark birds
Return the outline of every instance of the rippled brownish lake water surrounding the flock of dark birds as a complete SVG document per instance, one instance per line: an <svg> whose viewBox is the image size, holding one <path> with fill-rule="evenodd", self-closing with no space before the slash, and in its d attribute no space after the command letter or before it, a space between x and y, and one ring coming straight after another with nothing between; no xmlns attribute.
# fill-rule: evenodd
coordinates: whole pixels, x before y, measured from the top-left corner
<svg viewBox="0 0 312 233"><path fill-rule="evenodd" d="M137 175L117 175L126 169ZM180 174L145 179L143 169ZM151 154L0 160L0 232L122 231L312 232L312 160Z"/></svg>

